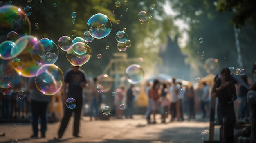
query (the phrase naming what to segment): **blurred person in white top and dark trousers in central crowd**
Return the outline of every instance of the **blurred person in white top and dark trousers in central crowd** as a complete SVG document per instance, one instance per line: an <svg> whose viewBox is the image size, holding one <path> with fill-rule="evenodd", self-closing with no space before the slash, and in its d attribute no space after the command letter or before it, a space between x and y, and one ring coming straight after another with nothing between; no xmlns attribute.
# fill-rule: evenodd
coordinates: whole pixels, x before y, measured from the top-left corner
<svg viewBox="0 0 256 143"><path fill-rule="evenodd" d="M178 96L179 96L179 88L176 85L176 78L173 77L172 79L172 85L170 87L170 94L171 94L171 121L174 121L176 117L176 103L178 101Z"/></svg>

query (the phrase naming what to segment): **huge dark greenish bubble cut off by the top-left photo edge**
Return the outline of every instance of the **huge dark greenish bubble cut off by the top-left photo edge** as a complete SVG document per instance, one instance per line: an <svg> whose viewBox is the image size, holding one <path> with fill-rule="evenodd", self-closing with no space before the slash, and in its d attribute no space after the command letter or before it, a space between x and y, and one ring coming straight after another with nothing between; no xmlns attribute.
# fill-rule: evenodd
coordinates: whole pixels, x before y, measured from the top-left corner
<svg viewBox="0 0 256 143"><path fill-rule="evenodd" d="M15 31L20 37L31 34L29 18L14 5L0 7L0 29L0 43L6 40L10 31Z"/></svg>

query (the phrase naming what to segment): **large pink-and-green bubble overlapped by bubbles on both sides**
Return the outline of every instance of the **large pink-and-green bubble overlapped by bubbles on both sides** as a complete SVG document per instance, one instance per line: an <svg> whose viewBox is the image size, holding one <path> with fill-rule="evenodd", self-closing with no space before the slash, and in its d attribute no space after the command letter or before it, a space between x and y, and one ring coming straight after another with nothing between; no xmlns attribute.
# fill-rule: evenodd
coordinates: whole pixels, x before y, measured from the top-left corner
<svg viewBox="0 0 256 143"><path fill-rule="evenodd" d="M15 43L18 48L24 49L16 57L22 61L22 68L13 67L16 72L23 77L35 77L37 70L40 65L32 58L32 47L36 44L38 40L34 36L23 36L20 37Z"/></svg>

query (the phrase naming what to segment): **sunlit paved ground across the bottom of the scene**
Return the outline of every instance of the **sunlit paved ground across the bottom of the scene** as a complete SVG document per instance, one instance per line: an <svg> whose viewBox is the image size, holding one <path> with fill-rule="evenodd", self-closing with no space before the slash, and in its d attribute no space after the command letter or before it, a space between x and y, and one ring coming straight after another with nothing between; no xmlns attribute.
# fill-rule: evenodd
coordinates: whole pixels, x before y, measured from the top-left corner
<svg viewBox="0 0 256 143"><path fill-rule="evenodd" d="M159 115L157 116L159 119ZM148 125L141 115L134 119L110 119L90 121L82 117L80 125L81 138L72 136L73 119L61 140L54 140L60 122L48 124L46 138L31 139L31 124L5 123L0 124L0 143L203 143L209 136L202 136L203 130L209 130L209 122L183 121ZM40 136L40 132L39 132ZM218 139L218 132L216 132Z"/></svg>

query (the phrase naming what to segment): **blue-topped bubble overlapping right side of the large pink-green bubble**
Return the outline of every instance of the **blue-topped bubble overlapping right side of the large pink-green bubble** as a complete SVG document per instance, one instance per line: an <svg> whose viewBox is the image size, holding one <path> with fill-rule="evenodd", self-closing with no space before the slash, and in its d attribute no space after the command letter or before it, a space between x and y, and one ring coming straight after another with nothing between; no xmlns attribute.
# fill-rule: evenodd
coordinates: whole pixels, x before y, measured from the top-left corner
<svg viewBox="0 0 256 143"><path fill-rule="evenodd" d="M42 38L32 47L31 55L40 66L54 64L59 55L58 46L52 40Z"/></svg>

